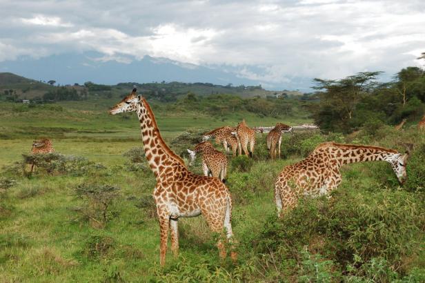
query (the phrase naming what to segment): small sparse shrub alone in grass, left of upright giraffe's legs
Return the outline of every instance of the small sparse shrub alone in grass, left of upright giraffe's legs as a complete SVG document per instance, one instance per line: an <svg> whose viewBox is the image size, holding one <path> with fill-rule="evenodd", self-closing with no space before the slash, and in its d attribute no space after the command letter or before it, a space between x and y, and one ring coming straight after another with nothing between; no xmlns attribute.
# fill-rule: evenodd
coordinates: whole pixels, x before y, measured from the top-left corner
<svg viewBox="0 0 425 283"><path fill-rule="evenodd" d="M117 215L110 211L110 207L115 199L119 197L119 188L117 186L99 185L80 185L75 188L77 196L84 200L85 204L77 208L77 212L88 219L92 226L103 228L108 220Z"/></svg>

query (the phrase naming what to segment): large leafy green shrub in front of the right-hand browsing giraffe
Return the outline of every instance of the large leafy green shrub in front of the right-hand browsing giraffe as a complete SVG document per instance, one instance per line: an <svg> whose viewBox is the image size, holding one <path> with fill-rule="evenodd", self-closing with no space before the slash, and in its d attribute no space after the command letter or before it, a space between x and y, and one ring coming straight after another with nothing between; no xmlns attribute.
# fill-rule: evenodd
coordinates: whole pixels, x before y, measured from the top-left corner
<svg viewBox="0 0 425 283"><path fill-rule="evenodd" d="M423 202L424 195L406 191L371 193L339 188L331 201L301 199L283 219L269 217L255 246L257 253L273 251L296 262L302 258L300 248L307 246L342 270L346 266L361 268L356 257L370 264L382 257L392 271L402 274L406 271L404 260L419 252L423 240Z"/></svg>

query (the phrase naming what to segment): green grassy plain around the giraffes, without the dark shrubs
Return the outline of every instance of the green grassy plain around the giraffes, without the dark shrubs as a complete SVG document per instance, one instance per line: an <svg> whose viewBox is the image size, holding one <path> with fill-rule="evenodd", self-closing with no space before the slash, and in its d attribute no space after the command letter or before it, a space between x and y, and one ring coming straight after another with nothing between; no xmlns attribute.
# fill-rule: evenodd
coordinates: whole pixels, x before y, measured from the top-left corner
<svg viewBox="0 0 425 283"><path fill-rule="evenodd" d="M180 255L173 259L169 251L166 268L161 269L159 226L152 216L152 207L146 205L155 186L155 178L150 171L133 170L128 165L128 159L123 157L123 153L130 148L141 146L141 140L136 117L106 114L108 107L115 104L116 100L62 102L36 108L1 104L1 175L15 179L17 184L1 195L0 282L339 282L344 274L352 273L337 274L336 270L342 270L338 264L327 269L323 265L324 260L313 262L313 265L318 264L323 269L319 269L322 272L319 275L331 275L328 281L314 280L315 273L308 269L308 262L298 257L298 249L293 251L293 257L274 250L271 252L272 246L270 253L259 250L258 246L266 240L266 223L275 215L275 176L285 165L302 159L318 142L326 139L368 142L400 150L402 146L397 145L400 141L425 144L424 137L418 135L415 128L406 130L402 135L393 131L379 139L370 135L348 139L341 135L308 133L286 136L284 159L270 162L264 136L259 135L255 161L246 171L237 169L237 163L232 163L228 176L228 187L235 202L233 227L239 241L239 263L233 265L219 260L215 240L206 222L202 217L195 217L179 220ZM252 113L233 113L221 121L205 113L170 113L164 105L153 104L152 108L168 143L186 130L209 130L217 126L234 125L242 118L246 119L249 126L268 126L277 121L286 124L309 122L306 117L259 118ZM21 154L29 153L32 139L40 137L51 137L57 153L85 157L103 166L84 165L86 167L80 168L79 173L69 170L68 173L49 174L40 169L31 177L13 173L10 164L21 161ZM391 203L393 206L389 206L390 212L393 208L406 208L404 201L408 200L413 212L407 217L418 219L419 224L415 222L415 225L422 225L422 231L418 236L413 224L409 228L415 239L409 242L410 247L416 251L404 255L406 266L400 269L402 271L397 269L399 276L404 276L412 274L411 271L417 268L424 270L423 244L420 246L416 242L418 238L424 240L424 211L417 204L421 202L421 195L400 188L387 165L354 164L344 168L342 188L333 199L336 204L348 207L353 199L347 195L376 197L377 205L370 205L377 208ZM199 163L191 170L200 173ZM409 167L408 170L411 174L417 173L413 168ZM419 184L422 182L420 177L419 172ZM87 204L85 199L77 197L75 188L81 184L112 184L120 188L119 197L115 198L110 207L109 220L104 226L81 217L79 209ZM404 200L393 201L395 197ZM320 205L330 205L327 199L319 199L319 202ZM290 219L297 219L296 215ZM286 227L288 231L297 228L297 225L304 227L302 220L297 221L297 224ZM368 221L365 223L368 224ZM379 221L381 225L386 223L382 219ZM374 223L370 225L376 226ZM400 227L402 231L403 227ZM308 233L313 230L310 228ZM304 230L299 228L299 231ZM301 233L299 231L297 233ZM370 237L375 237L375 234ZM324 259L333 258L332 253L317 248L317 243L316 246L312 245L308 244L310 253L321 254ZM384 249L382 253L371 254L381 254L387 259ZM364 258L366 266L366 255ZM387 260L390 259L388 256ZM362 273L357 275L362 278ZM310 278L308 276L313 279L306 280Z"/></svg>

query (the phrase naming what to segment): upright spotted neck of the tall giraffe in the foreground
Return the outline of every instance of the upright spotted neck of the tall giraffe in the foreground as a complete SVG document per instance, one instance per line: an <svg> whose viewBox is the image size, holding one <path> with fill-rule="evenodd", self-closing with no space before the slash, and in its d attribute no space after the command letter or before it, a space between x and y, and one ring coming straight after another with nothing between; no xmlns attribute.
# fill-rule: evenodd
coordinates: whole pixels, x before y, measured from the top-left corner
<svg viewBox="0 0 425 283"><path fill-rule="evenodd" d="M140 121L141 139L144 144L146 159L148 159L150 169L157 180L166 166L181 164L185 167L183 160L173 153L162 139L155 115L153 115L148 102L144 98L141 98L137 105L137 117Z"/></svg>

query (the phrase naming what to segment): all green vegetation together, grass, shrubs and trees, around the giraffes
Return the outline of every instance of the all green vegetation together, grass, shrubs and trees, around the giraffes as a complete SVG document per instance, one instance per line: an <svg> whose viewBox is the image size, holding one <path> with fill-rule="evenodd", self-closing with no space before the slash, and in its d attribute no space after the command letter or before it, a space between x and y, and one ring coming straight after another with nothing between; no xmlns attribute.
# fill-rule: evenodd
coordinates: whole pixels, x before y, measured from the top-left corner
<svg viewBox="0 0 425 283"><path fill-rule="evenodd" d="M417 72L420 83L424 72ZM304 101L231 92L185 92L168 102L150 97L161 134L184 159L206 130L243 118L249 126L321 126L321 132L285 134L283 158L275 162L268 158L265 134L257 134L253 159L229 157L237 264L219 260L216 235L195 217L179 220L179 257L168 253L166 266L159 267L155 178L144 159L139 122L130 114L106 114L132 83L88 90L77 101L27 105L3 99L0 281L424 282L425 134L417 121L425 87L406 84L404 99L397 92L404 93L399 77L384 86L373 83L376 75L318 81L318 99ZM395 130L404 118L404 128ZM42 137L52 139L56 152L29 155L32 139ZM325 141L401 152L414 144L408 180L400 185L384 162L350 164L330 199L304 197L277 218L275 177ZM201 173L199 159L190 170Z"/></svg>

